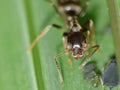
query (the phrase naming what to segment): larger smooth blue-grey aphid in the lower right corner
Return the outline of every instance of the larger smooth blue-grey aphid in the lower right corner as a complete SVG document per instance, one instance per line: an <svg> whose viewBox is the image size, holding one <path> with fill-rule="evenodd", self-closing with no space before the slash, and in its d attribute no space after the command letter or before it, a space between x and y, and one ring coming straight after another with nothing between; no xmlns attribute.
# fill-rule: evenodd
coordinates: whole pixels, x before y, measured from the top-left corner
<svg viewBox="0 0 120 90"><path fill-rule="evenodd" d="M115 56L111 57L109 64L105 67L102 80L103 84L108 86L110 90L119 84L118 67Z"/></svg>

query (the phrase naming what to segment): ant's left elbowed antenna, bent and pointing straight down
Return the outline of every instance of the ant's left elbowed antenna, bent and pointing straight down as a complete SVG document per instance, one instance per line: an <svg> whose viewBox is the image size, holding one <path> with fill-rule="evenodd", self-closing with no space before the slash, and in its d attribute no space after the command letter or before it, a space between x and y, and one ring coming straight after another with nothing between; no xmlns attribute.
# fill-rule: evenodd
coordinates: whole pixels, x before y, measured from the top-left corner
<svg viewBox="0 0 120 90"><path fill-rule="evenodd" d="M68 52L69 51L66 50L66 51L64 51L60 54L55 55L55 57L54 57L54 61L55 61L55 65L57 67L57 71L58 71L58 75L59 75L59 78L60 78L61 86L64 86L64 80L63 80L63 76L62 76L62 73L61 73L61 68L60 68L59 62L57 61L57 58L63 56L65 53L68 53Z"/></svg>

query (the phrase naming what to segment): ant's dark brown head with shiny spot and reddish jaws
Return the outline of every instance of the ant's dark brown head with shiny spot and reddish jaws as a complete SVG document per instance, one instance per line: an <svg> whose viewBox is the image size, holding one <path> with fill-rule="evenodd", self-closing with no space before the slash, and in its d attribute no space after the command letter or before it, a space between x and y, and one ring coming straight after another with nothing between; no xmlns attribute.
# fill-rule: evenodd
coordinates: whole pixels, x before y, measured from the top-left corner
<svg viewBox="0 0 120 90"><path fill-rule="evenodd" d="M68 36L68 43L71 45L72 56L75 59L82 58L87 46L83 32L74 32Z"/></svg>

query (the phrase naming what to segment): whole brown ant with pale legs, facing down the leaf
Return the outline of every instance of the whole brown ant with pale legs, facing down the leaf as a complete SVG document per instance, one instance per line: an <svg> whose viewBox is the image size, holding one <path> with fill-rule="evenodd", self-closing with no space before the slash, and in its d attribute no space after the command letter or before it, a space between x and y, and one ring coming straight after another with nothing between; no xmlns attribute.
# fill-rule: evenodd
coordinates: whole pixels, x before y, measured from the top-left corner
<svg viewBox="0 0 120 90"><path fill-rule="evenodd" d="M58 7L52 0L48 1L53 6L58 15L66 22L66 26L62 27L57 24L46 26L43 32L41 32L32 42L28 50L31 50L38 42L38 40L41 39L52 27L58 29L67 29L68 32L63 33L63 44L65 47L65 51L57 54L54 57L54 61L60 78L60 84L64 85L60 65L57 61L57 58L63 56L64 54L66 54L67 56L68 54L72 54L73 58L77 60L82 58L86 51L94 48L91 54L88 55L87 60L85 60L80 66L83 67L87 62L90 61L92 55L98 50L99 45L90 45L90 38L95 38L92 20L87 21L83 26L78 23L78 18L83 17L85 14L86 8L88 6L88 1L85 2L84 6L81 6L81 0L58 0ZM68 63L70 66L72 66L72 61L69 59L69 57Z"/></svg>

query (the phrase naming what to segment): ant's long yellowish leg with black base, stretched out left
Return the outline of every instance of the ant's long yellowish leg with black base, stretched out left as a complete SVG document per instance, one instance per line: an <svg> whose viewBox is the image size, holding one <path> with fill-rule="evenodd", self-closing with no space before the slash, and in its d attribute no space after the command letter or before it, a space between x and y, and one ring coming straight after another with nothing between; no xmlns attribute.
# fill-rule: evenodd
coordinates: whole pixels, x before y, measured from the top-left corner
<svg viewBox="0 0 120 90"><path fill-rule="evenodd" d="M32 44L29 46L28 51L31 51L32 48L35 46L35 44L38 42L39 39L41 39L45 34L48 33L48 31L52 28L52 27L56 27L56 28L63 28L59 25L56 24L51 24L45 27L45 29L35 38L35 40L32 42Z"/></svg>

